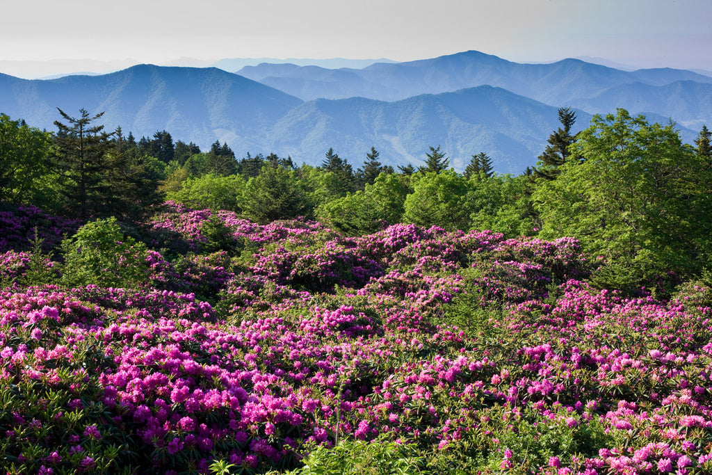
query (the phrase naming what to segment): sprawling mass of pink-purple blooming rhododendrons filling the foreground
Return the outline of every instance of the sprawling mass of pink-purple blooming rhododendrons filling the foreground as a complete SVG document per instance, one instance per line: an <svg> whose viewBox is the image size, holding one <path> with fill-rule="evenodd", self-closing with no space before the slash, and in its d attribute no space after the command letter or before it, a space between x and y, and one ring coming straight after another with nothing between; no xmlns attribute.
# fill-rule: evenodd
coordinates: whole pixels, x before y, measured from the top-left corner
<svg viewBox="0 0 712 475"><path fill-rule="evenodd" d="M200 254L214 215L235 246ZM180 207L152 228L130 286L68 288L44 255L27 286L30 246L0 255L7 473L298 471L368 442L407 473L712 471L702 283L594 288L574 239Z"/></svg>

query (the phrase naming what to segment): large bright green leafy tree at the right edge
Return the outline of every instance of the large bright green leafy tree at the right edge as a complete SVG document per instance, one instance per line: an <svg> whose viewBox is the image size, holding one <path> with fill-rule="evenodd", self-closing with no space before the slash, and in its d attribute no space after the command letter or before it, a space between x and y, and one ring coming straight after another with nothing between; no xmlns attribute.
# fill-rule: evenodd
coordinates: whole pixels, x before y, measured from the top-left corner
<svg viewBox="0 0 712 475"><path fill-rule="evenodd" d="M596 115L569 150L559 176L534 192L540 236L577 237L618 281L701 270L711 244L710 169L674 124L619 109Z"/></svg>

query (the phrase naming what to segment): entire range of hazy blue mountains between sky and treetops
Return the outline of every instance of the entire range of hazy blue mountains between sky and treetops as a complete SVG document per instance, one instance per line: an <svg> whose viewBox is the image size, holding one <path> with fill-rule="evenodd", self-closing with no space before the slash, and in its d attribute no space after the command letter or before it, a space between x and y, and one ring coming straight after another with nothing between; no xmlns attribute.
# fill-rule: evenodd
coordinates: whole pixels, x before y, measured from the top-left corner
<svg viewBox="0 0 712 475"><path fill-rule="evenodd" d="M559 126L560 106L577 108L578 129L591 113L616 107L651 121L673 118L686 142L702 123L712 124L712 78L666 68L520 64L468 51L362 69L261 64L241 73L251 78L219 68L152 65L53 80L0 74L0 112L55 130L56 108L70 115L80 108L105 111L109 130L120 125L137 138L167 130L204 150L219 140L238 157L276 152L312 165L333 147L357 167L373 146L387 165L417 166L429 145L441 145L456 169L486 152L497 172L511 173L534 165Z"/></svg>

